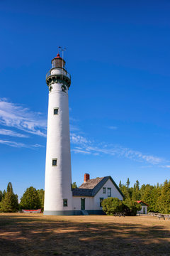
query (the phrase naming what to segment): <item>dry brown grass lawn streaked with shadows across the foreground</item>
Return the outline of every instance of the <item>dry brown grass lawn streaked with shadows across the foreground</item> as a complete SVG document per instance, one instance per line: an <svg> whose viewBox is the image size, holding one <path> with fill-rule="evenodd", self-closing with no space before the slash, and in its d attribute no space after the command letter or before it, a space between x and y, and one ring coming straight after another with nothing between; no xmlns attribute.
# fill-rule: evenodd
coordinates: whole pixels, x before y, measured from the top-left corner
<svg viewBox="0 0 170 256"><path fill-rule="evenodd" d="M79 218L77 216L77 218ZM0 216L0 255L170 255L165 227Z"/></svg>

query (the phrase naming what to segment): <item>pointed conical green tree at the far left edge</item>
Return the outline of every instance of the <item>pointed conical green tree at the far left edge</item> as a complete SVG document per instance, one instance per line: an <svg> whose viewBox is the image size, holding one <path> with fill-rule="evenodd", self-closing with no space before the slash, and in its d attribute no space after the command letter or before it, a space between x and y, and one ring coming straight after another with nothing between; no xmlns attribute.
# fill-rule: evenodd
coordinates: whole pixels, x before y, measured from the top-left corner
<svg viewBox="0 0 170 256"><path fill-rule="evenodd" d="M9 189L10 188L10 189ZM15 213L18 210L18 196L13 193L11 182L8 183L7 192L4 193L0 203L0 211L3 213Z"/></svg>

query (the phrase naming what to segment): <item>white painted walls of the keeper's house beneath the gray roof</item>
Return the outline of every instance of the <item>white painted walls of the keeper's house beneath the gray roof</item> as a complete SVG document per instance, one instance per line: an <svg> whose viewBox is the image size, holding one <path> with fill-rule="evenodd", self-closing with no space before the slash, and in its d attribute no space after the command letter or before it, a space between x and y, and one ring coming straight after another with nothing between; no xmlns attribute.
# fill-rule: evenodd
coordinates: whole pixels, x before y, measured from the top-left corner
<svg viewBox="0 0 170 256"><path fill-rule="evenodd" d="M106 193L103 193L103 187L106 188ZM110 179L106 181L103 187L98 191L98 193L96 193L96 196L94 197L73 196L74 210L81 210L81 198L86 198L85 210L102 210L102 207L100 207L100 198L108 198L107 188L111 188L111 197L123 200L123 196L119 193L118 189L115 188L113 182Z"/></svg>

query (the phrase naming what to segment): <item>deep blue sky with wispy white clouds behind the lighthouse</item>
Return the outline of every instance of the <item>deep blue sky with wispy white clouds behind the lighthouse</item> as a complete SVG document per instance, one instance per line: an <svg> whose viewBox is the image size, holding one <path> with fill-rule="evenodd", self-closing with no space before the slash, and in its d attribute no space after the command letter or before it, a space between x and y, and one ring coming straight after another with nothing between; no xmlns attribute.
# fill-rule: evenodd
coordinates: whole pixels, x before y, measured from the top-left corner
<svg viewBox="0 0 170 256"><path fill-rule="evenodd" d="M57 46L72 75L72 180L169 179L169 11L169 1L0 1L0 190L44 188Z"/></svg>

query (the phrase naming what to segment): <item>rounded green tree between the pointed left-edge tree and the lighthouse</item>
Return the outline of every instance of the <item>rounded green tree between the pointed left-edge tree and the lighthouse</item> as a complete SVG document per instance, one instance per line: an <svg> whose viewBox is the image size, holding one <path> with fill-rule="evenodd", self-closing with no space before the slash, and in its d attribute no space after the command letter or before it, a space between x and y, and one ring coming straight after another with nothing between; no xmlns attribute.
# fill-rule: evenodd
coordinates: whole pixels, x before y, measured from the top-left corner
<svg viewBox="0 0 170 256"><path fill-rule="evenodd" d="M20 202L20 208L27 209L27 210L35 210L40 207L41 207L41 203L40 203L38 191L36 191L36 189L33 188L33 186L30 186L30 188L27 188L26 192L23 193L23 196Z"/></svg>

